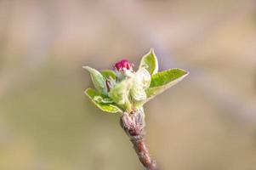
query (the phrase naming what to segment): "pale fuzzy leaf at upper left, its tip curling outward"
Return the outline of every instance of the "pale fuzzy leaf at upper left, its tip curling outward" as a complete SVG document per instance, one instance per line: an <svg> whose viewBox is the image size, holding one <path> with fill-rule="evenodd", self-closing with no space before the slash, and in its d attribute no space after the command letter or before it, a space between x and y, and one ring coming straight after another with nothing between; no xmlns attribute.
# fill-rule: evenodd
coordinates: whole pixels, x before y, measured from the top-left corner
<svg viewBox="0 0 256 170"><path fill-rule="evenodd" d="M94 82L94 87L101 93L107 94L107 89L105 87L105 77L101 75L101 73L89 66L83 66L82 68L86 69L90 72L92 80Z"/></svg>

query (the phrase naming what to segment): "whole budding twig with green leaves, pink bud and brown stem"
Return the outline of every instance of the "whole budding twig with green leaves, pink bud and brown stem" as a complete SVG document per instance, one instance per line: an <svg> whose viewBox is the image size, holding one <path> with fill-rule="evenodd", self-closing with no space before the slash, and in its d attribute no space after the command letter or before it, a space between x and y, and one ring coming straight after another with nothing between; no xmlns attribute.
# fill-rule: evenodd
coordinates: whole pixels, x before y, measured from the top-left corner
<svg viewBox="0 0 256 170"><path fill-rule="evenodd" d="M188 75L181 69L158 72L156 54L151 49L142 57L138 71L127 59L117 62L111 70L97 71L84 66L90 72L93 88L85 94L101 111L120 113L120 124L134 144L139 161L146 170L156 170L145 144L145 113L143 106L157 94L174 86Z"/></svg>

